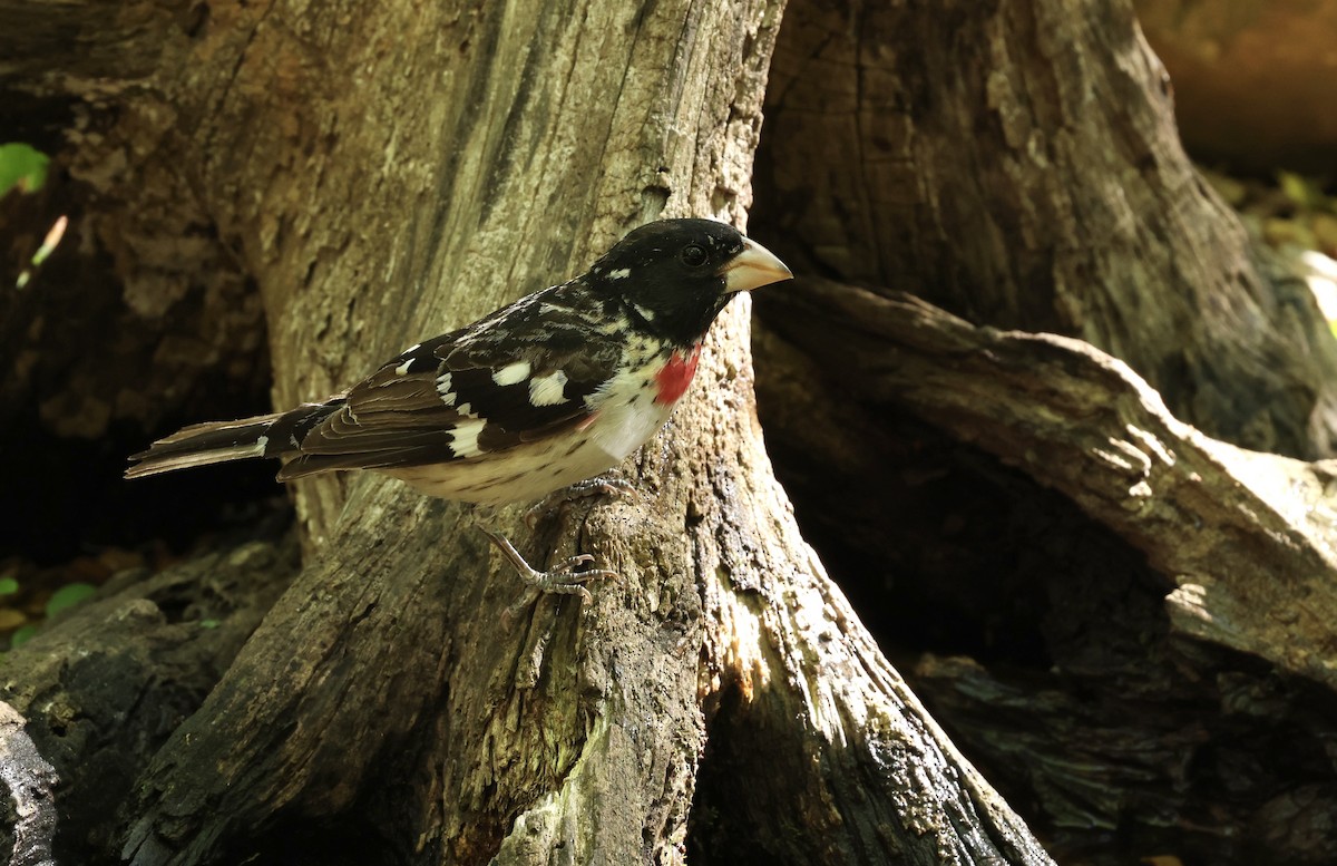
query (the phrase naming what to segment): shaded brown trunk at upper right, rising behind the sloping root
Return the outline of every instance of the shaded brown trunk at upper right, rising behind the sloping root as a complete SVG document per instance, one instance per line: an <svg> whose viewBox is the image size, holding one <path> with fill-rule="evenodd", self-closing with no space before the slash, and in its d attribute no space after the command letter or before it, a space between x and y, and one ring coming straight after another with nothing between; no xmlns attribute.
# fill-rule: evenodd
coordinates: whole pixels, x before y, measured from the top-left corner
<svg viewBox="0 0 1337 866"><path fill-rule="evenodd" d="M1334 452L1337 343L1198 178L1131 3L796 3L758 223L808 273L1079 337L1179 418Z"/></svg>

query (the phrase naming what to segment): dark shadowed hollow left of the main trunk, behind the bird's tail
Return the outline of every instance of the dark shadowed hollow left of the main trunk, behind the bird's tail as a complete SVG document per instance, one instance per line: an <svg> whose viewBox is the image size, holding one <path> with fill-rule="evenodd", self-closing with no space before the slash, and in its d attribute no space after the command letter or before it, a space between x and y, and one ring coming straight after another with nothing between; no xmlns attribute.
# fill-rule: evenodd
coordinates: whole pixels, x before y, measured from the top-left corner
<svg viewBox="0 0 1337 866"><path fill-rule="evenodd" d="M267 410L257 289L229 269L190 283L156 249L106 249L92 192L60 166L56 154L41 190L0 199L9 242L0 278L31 271L0 291L0 559L47 568L107 548L182 552L202 533L243 524L249 504L277 490L277 466L130 484L126 457L187 424ZM59 218L60 242L32 266ZM221 249L209 225L183 227L182 243L202 257ZM146 286L170 299L148 298Z"/></svg>

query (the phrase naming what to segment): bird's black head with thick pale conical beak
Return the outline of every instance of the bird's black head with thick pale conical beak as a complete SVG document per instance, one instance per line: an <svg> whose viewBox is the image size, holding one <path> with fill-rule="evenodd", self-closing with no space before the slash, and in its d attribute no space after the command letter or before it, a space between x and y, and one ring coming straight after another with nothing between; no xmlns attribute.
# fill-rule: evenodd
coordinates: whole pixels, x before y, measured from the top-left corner
<svg viewBox="0 0 1337 866"><path fill-rule="evenodd" d="M783 262L713 219L662 219L632 230L590 269L596 291L643 330L698 342L737 291L793 277Z"/></svg>

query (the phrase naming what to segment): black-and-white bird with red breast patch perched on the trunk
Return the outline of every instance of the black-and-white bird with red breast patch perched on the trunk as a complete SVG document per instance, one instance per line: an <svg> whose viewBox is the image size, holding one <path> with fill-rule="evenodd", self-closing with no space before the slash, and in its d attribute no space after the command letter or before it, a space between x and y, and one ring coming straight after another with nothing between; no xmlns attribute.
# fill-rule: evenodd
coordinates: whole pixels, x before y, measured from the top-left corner
<svg viewBox="0 0 1337 866"><path fill-rule="evenodd" d="M287 412L197 424L132 454L127 478L254 457L278 481L370 470L488 513L598 481L668 420L729 301L792 279L729 223L660 219L590 269L386 361L350 389ZM574 556L532 568L480 527L537 592L615 576Z"/></svg>

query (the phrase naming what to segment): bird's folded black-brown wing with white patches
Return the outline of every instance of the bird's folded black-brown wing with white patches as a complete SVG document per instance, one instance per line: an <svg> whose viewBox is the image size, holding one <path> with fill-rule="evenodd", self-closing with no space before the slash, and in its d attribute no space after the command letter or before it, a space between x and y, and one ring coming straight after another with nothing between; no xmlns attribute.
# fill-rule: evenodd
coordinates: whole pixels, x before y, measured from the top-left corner
<svg viewBox="0 0 1337 866"><path fill-rule="evenodd" d="M586 397L614 376L620 347L571 294L567 283L529 295L386 362L279 477L467 460L588 421Z"/></svg>

